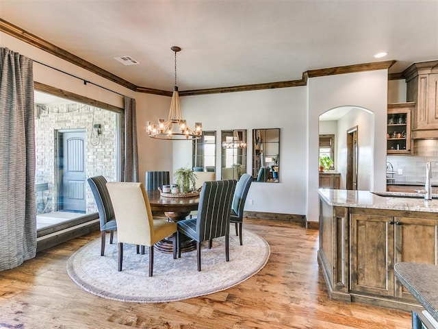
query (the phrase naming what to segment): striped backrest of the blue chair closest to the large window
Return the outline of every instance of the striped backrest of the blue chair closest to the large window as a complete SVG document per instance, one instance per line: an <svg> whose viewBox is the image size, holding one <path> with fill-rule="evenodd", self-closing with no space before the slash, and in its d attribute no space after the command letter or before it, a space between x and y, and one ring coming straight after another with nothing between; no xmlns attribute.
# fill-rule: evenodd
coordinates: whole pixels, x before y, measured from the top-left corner
<svg viewBox="0 0 438 329"><path fill-rule="evenodd" d="M108 193L107 180L103 176L90 177L88 178L88 184L90 184L94 200L96 201L102 230L108 221L114 219L114 208L110 199L110 193Z"/></svg>

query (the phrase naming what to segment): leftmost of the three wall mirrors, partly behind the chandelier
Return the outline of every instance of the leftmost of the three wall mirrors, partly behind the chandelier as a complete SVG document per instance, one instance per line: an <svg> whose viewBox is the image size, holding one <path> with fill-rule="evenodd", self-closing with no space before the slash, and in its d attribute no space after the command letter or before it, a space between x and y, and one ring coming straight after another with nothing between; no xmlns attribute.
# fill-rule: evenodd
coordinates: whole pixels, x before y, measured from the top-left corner
<svg viewBox="0 0 438 329"><path fill-rule="evenodd" d="M216 132L203 132L203 136L193 141L194 171L216 171Z"/></svg>

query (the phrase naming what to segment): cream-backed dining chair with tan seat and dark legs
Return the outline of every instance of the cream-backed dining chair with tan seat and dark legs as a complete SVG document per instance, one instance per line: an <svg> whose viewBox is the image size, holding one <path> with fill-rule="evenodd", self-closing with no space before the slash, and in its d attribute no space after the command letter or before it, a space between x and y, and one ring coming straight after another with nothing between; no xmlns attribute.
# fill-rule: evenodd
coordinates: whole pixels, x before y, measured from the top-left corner
<svg viewBox="0 0 438 329"><path fill-rule="evenodd" d="M153 274L153 245L173 234L173 258L177 258L177 223L153 220L151 205L142 183L108 182L117 218L118 271L122 270L123 243L149 247L149 276Z"/></svg>

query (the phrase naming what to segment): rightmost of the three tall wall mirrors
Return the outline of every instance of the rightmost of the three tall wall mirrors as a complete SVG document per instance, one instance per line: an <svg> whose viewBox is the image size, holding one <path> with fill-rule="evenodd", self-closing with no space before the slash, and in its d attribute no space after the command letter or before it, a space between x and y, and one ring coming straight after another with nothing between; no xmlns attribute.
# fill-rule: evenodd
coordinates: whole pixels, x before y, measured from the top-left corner
<svg viewBox="0 0 438 329"><path fill-rule="evenodd" d="M280 179L280 128L253 130L253 177L255 182L278 183Z"/></svg>

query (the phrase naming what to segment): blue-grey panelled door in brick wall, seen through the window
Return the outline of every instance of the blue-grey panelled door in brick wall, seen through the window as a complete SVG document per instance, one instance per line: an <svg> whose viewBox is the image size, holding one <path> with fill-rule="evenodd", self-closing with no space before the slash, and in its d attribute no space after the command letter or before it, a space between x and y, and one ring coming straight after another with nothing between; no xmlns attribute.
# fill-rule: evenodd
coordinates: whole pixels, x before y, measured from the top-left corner
<svg viewBox="0 0 438 329"><path fill-rule="evenodd" d="M86 132L60 132L60 210L86 210Z"/></svg>

